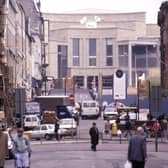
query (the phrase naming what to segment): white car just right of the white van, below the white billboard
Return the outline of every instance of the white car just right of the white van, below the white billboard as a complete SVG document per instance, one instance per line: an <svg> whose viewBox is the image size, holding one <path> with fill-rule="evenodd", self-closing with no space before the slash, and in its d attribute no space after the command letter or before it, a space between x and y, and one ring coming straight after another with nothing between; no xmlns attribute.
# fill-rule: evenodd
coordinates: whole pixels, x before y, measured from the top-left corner
<svg viewBox="0 0 168 168"><path fill-rule="evenodd" d="M103 112L104 120L106 119L115 120L117 119L117 115L118 115L117 109L113 106L107 106Z"/></svg>

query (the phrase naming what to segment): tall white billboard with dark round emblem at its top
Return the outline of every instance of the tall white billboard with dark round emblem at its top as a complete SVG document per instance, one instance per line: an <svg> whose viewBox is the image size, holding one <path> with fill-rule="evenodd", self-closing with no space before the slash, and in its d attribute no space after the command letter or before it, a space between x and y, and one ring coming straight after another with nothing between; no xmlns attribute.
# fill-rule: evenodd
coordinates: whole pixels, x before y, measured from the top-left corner
<svg viewBox="0 0 168 168"><path fill-rule="evenodd" d="M126 99L126 74L122 70L117 70L113 81L114 100Z"/></svg>

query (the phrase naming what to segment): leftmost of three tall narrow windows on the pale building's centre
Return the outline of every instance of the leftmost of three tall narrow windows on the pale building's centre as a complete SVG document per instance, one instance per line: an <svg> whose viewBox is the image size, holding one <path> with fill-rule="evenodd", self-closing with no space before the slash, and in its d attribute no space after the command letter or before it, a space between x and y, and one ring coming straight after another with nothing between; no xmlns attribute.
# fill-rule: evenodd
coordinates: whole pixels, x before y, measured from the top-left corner
<svg viewBox="0 0 168 168"><path fill-rule="evenodd" d="M72 39L73 66L80 66L80 39Z"/></svg>

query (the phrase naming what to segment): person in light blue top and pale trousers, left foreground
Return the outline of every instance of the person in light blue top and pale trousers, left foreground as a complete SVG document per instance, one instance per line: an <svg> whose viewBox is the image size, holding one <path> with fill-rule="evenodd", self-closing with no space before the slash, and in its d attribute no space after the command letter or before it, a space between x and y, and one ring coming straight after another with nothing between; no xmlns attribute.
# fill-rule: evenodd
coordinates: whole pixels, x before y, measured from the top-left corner
<svg viewBox="0 0 168 168"><path fill-rule="evenodd" d="M31 148L29 140L23 135L24 131L22 128L18 128L17 136L13 140L14 153L15 153L15 164L17 168L29 168L30 167L30 156Z"/></svg>

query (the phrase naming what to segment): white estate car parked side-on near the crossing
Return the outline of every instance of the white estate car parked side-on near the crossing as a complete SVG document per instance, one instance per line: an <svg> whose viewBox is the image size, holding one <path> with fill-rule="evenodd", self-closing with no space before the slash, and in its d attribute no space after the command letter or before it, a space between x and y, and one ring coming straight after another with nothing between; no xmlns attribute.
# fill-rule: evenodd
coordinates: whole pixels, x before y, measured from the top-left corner
<svg viewBox="0 0 168 168"><path fill-rule="evenodd" d="M25 131L25 134L29 135L32 139L50 140L55 137L55 125L54 124L41 124L35 127L33 130Z"/></svg>

